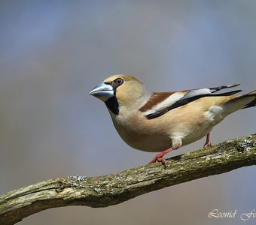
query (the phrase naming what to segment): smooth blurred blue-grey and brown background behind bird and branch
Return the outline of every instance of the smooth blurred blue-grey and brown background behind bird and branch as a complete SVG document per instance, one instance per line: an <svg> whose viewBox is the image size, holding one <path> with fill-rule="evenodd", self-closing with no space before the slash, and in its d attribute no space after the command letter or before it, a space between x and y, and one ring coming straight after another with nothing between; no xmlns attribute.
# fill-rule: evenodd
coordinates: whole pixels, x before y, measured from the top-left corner
<svg viewBox="0 0 256 225"><path fill-rule="evenodd" d="M250 92L255 23L253 0L0 1L0 194L148 163L155 154L126 145L90 89L112 74L130 74L152 91L241 83ZM226 118L212 143L255 133L255 110ZM240 224L239 214L256 207L255 184L250 166L108 208L52 208L19 224ZM207 217L215 208L237 216Z"/></svg>

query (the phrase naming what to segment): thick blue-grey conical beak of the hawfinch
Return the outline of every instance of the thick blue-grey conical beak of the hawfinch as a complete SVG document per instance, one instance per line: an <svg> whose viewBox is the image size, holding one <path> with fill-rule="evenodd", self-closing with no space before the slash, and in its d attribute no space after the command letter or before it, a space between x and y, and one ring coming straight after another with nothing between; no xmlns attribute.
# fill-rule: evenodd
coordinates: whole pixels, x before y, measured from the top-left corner
<svg viewBox="0 0 256 225"><path fill-rule="evenodd" d="M96 86L89 94L105 102L108 98L114 96L114 89L111 85L100 83L99 86Z"/></svg>

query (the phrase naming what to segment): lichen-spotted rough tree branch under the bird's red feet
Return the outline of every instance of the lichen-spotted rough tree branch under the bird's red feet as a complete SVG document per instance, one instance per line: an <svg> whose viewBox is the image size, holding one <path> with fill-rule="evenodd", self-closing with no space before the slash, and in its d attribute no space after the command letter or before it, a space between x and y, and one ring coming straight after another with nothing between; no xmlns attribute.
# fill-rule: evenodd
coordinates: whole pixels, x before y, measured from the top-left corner
<svg viewBox="0 0 256 225"><path fill-rule="evenodd" d="M0 224L14 224L47 208L66 205L106 207L144 193L256 164L256 134L212 148L181 154L160 163L99 177L55 178L0 196Z"/></svg>

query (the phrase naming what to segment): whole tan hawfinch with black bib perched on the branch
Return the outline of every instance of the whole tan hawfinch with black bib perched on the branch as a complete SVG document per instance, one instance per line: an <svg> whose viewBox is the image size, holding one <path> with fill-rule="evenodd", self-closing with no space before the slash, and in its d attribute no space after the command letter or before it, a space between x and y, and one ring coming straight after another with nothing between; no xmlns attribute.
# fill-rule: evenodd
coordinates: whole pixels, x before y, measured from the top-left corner
<svg viewBox="0 0 256 225"><path fill-rule="evenodd" d="M192 89L181 92L150 92L135 77L114 75L90 91L105 103L114 127L131 147L159 152L151 163L166 167L163 155L206 136L211 146L212 128L230 113L256 105L256 90L218 94L238 85Z"/></svg>

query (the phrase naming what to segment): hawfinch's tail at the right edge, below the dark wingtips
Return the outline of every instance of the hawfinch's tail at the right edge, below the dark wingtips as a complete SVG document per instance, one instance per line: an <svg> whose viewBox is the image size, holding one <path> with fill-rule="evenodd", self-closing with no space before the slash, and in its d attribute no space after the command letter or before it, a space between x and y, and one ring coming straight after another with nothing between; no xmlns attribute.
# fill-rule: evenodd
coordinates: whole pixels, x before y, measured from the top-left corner
<svg viewBox="0 0 256 225"><path fill-rule="evenodd" d="M256 90L254 90L253 92L249 92L246 95L239 95L236 98L232 98L230 99L230 101L227 101L225 105L227 105L227 108L229 109L230 113L233 113L237 110L246 109L249 107L255 107Z"/></svg>

